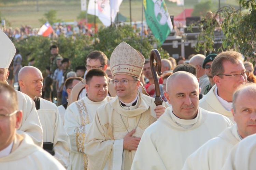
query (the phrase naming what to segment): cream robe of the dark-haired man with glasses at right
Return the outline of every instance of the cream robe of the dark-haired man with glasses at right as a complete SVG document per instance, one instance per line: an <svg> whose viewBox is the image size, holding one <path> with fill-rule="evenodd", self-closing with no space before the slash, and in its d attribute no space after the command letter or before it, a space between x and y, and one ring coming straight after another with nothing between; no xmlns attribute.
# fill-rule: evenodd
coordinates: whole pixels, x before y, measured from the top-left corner
<svg viewBox="0 0 256 170"><path fill-rule="evenodd" d="M226 116L230 119L234 124L236 123L233 119L233 114L231 111L227 111L222 104L217 99L214 94L214 89L217 88L216 84L212 87L212 89L201 99L199 100L199 106L205 110L216 112Z"/></svg>

